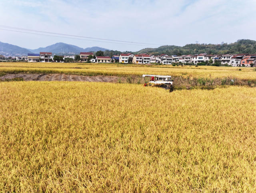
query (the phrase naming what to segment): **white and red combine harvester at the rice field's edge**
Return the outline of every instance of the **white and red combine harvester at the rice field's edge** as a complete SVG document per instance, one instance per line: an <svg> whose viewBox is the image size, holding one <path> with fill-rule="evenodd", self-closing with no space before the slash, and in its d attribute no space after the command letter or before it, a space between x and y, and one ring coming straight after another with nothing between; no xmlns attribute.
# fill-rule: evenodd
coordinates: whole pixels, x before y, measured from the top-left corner
<svg viewBox="0 0 256 193"><path fill-rule="evenodd" d="M173 80L171 79L171 76L158 76L158 75L147 75L143 74L142 77L145 80L145 77L151 77L150 81L148 83L145 83L144 86L157 86L161 88L165 88L170 90L170 92L173 91L172 83Z"/></svg>

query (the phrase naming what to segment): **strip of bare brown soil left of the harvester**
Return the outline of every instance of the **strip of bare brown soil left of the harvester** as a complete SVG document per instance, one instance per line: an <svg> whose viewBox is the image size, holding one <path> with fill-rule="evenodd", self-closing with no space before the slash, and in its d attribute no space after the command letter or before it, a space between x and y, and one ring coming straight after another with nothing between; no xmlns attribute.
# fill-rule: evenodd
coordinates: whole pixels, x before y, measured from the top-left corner
<svg viewBox="0 0 256 193"><path fill-rule="evenodd" d="M6 74L0 80L23 78L25 81L82 81L82 82L117 82L117 76L79 76L67 74Z"/></svg>

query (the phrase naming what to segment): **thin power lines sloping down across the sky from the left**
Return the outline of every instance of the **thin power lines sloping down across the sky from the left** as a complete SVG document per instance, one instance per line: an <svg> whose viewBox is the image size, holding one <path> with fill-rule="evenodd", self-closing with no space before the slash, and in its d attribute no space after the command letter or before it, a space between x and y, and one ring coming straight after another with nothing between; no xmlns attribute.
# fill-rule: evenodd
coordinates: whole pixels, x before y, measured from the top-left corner
<svg viewBox="0 0 256 193"><path fill-rule="evenodd" d="M78 38L88 38L88 39L94 39L94 40L106 40L106 41L111 41L111 42L124 42L124 43L131 43L132 45L133 44L144 44L144 45L160 46L159 44L148 44L148 43L143 43L143 42L128 42L128 41L111 40L111 39L104 39L104 38L92 38L92 37L87 37L87 36L76 36L76 35L61 34L61 33L54 33L54 32L46 32L46 31L40 31L40 30L31 30L31 29L18 28L18 27L13 27L13 26L0 25L0 27L2 27L2 28L9 28L9 29L15 29L15 30L30 31L30 32L40 32L40 33L46 33L46 34L55 34L55 35L61 35L61 36L72 36L72 37L78 37Z"/></svg>

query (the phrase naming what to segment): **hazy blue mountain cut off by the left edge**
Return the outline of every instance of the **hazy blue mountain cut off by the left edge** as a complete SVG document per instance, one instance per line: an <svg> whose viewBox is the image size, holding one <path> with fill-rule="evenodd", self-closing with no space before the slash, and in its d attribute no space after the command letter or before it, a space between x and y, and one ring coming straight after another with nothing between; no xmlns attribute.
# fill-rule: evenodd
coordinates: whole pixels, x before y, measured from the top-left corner
<svg viewBox="0 0 256 193"><path fill-rule="evenodd" d="M0 54L5 56L22 56L27 55L30 51L26 48L21 48L12 44L0 42Z"/></svg>

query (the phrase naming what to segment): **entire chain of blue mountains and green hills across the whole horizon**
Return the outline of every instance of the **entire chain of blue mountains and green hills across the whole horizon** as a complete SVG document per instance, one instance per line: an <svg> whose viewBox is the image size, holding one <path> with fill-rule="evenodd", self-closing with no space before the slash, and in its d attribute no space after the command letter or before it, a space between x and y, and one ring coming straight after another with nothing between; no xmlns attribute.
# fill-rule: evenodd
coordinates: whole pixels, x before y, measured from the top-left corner
<svg viewBox="0 0 256 193"><path fill-rule="evenodd" d="M108 50L106 48L91 47L91 48L80 48L71 44L56 43L45 48L38 48L35 50L21 48L12 44L0 42L0 54L5 56L22 56L28 53L37 54L39 52L52 52L58 55L71 55L79 54L80 52L97 52L104 51L105 56L118 55L120 53L131 53L131 52L120 52L117 50ZM249 53L256 54L256 41L254 40L237 40L234 43L223 43L222 44L187 44L185 46L160 46L159 48L144 48L134 54L168 54L172 55L184 55L184 54L238 54L238 53Z"/></svg>

